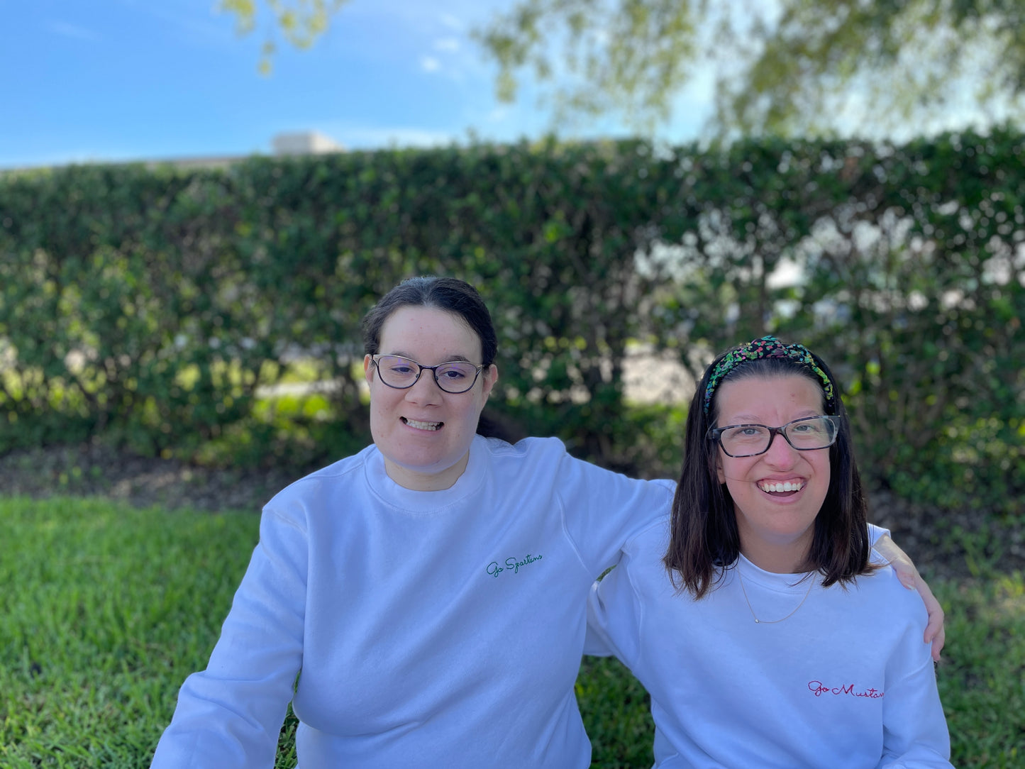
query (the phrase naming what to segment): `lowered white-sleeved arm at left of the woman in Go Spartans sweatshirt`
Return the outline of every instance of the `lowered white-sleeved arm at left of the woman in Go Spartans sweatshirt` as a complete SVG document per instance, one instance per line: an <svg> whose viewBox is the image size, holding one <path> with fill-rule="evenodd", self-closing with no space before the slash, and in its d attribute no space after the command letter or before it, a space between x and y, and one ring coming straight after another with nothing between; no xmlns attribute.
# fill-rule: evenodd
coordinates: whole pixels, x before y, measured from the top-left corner
<svg viewBox="0 0 1025 769"><path fill-rule="evenodd" d="M301 516L273 503L209 663L181 686L153 769L274 766L302 664L308 550Z"/></svg>

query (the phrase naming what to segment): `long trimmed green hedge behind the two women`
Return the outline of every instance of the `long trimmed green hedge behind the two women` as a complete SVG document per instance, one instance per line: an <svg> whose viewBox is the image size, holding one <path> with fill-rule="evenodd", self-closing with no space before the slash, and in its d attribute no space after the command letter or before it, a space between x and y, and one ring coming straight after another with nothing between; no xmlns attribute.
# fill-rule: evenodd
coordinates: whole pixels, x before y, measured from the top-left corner
<svg viewBox="0 0 1025 769"><path fill-rule="evenodd" d="M492 308L495 407L579 455L674 473L680 414L626 416L628 342L697 374L776 332L844 378L871 483L1021 515L1023 148L1007 129L7 173L0 451L100 436L194 459L351 452L368 440L360 318L441 273ZM333 387L258 397L311 377Z"/></svg>

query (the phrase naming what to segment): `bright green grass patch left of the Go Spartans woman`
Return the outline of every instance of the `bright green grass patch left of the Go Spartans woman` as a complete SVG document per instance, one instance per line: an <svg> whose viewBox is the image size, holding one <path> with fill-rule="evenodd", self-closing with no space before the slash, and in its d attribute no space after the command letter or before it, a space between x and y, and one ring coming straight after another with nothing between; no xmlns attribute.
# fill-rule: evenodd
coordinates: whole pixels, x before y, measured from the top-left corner
<svg viewBox="0 0 1025 769"><path fill-rule="evenodd" d="M149 766L256 517L0 498L0 765Z"/></svg>

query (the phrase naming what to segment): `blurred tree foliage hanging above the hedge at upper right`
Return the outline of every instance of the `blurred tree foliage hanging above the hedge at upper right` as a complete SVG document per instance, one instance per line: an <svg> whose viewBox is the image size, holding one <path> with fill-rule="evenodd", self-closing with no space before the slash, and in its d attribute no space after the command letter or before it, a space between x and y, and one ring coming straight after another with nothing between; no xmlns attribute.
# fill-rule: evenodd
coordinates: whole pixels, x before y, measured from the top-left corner
<svg viewBox="0 0 1025 769"><path fill-rule="evenodd" d="M713 132L793 135L1020 109L1023 31L1022 0L517 0L479 37L506 99L526 69L564 108L646 127L705 65Z"/></svg>

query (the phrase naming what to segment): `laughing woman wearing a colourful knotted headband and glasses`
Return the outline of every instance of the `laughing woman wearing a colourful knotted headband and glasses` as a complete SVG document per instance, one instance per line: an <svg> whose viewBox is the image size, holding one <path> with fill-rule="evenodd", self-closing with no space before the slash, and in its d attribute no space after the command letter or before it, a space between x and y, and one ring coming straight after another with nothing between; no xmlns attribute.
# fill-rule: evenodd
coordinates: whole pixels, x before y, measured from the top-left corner
<svg viewBox="0 0 1025 769"><path fill-rule="evenodd" d="M767 336L708 366L668 526L588 601L586 651L651 694L655 766L950 767L926 611L865 507L817 355Z"/></svg>

